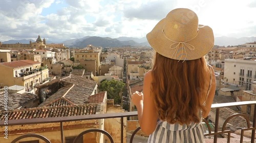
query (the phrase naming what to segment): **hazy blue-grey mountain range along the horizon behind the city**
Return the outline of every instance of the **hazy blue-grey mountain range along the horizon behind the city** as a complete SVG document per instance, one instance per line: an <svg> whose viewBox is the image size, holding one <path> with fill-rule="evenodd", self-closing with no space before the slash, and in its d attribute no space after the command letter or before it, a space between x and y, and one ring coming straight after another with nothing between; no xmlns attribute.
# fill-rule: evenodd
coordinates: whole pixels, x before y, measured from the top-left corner
<svg viewBox="0 0 256 143"><path fill-rule="evenodd" d="M3 44L15 44L23 43L29 44L29 41L35 42L32 39L26 40L9 40L4 41ZM242 38L231 38L231 37L216 37L215 45L219 46L228 46L228 45L242 45L249 42L256 41L256 37L242 37ZM87 45L101 46L101 47L121 47L121 46L150 46L148 44L146 37L143 38L134 38L134 37L118 37L118 38L109 38L109 37L97 37L97 36L86 36L83 38L76 38L71 40L66 40L63 42L53 42L46 41L47 43L63 43L67 47L83 48Z"/></svg>

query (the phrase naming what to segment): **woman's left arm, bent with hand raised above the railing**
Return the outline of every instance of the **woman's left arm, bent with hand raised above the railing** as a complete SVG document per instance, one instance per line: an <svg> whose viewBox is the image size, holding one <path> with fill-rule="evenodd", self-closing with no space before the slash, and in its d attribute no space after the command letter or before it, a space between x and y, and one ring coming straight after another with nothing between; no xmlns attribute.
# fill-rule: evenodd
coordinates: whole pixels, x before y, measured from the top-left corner
<svg viewBox="0 0 256 143"><path fill-rule="evenodd" d="M152 74L148 71L144 76L143 93L136 92L132 95L132 102L138 110L138 118L141 130L150 135L157 125L157 109L153 95L151 94Z"/></svg>

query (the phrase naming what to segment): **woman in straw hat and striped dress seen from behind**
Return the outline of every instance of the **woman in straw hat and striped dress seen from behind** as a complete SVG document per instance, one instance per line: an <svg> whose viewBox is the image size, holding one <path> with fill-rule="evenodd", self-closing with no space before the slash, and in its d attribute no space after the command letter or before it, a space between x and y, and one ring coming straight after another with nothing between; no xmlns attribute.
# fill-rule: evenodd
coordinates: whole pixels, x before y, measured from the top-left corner
<svg viewBox="0 0 256 143"><path fill-rule="evenodd" d="M145 74L144 94L135 92L132 102L148 142L204 142L201 122L216 89L214 70L204 58L214 46L211 28L182 8L170 11L146 37L155 62Z"/></svg>

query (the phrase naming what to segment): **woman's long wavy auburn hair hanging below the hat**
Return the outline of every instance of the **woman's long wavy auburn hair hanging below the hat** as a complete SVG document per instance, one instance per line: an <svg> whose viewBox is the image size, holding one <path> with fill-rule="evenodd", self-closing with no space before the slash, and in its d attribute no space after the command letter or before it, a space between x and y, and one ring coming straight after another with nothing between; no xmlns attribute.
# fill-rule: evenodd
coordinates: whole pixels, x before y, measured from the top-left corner
<svg viewBox="0 0 256 143"><path fill-rule="evenodd" d="M156 52L151 91L159 119L170 124L199 123L199 112L205 111L207 75L204 57L178 62Z"/></svg>

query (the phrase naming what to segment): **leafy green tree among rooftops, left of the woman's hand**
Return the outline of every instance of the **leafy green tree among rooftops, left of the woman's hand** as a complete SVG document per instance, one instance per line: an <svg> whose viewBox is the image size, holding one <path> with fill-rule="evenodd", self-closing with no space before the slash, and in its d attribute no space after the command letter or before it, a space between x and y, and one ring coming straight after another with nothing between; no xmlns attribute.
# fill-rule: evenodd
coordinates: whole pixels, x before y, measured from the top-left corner
<svg viewBox="0 0 256 143"><path fill-rule="evenodd" d="M102 80L100 82L99 90L106 91L108 95L108 99L114 99L115 104L121 104L122 95L121 92L123 90L124 83L118 80Z"/></svg>

